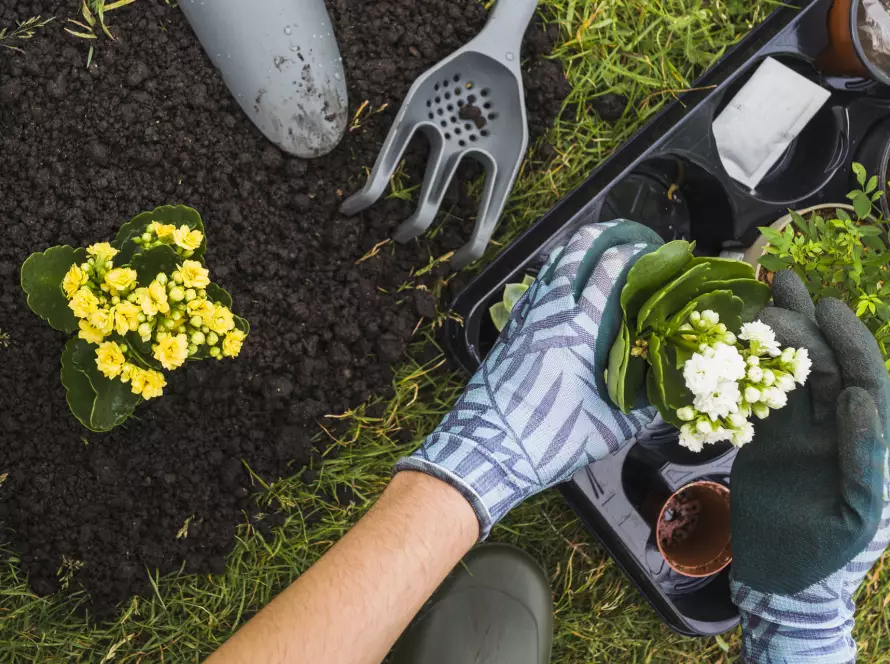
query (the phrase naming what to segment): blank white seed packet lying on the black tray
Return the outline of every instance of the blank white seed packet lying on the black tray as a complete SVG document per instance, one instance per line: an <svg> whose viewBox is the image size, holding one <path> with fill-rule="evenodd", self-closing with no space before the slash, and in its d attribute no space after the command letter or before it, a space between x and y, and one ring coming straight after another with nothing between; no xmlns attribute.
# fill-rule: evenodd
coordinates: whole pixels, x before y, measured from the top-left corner
<svg viewBox="0 0 890 664"><path fill-rule="evenodd" d="M767 58L713 123L729 176L756 187L831 93Z"/></svg>

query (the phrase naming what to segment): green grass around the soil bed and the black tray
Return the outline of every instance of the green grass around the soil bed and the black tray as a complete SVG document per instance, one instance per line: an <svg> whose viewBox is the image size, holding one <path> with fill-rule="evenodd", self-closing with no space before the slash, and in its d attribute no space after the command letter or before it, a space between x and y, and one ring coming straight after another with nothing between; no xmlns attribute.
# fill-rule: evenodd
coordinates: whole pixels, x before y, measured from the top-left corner
<svg viewBox="0 0 890 664"><path fill-rule="evenodd" d="M556 160L525 165L498 241L509 241L579 184L771 7L751 0L543 0L541 11L562 27L564 43L555 57L566 67L574 90L567 103L577 112L564 117L548 137L559 153ZM606 92L627 95L637 113L614 126L600 122L589 104ZM431 345L430 330L418 331L412 356L425 351L429 357ZM0 662L202 659L368 509L395 459L412 447L399 442L402 432L419 442L448 411L465 377L446 374L440 365L441 357L424 366L406 362L397 371L391 401L347 414L347 431L337 441L340 454L318 469L315 486L283 480L267 487L263 495L269 511L283 510L287 520L268 538L245 524L223 576L157 579L154 596L134 598L113 620L95 624L78 617L82 598L76 594L34 596L15 555L6 552L0 565ZM355 504L321 499L341 483L355 491ZM736 658L737 633L696 640L663 627L555 491L516 509L492 538L523 547L548 571L556 603L554 662L717 663ZM869 576L858 603L860 661L890 662L887 556Z"/></svg>

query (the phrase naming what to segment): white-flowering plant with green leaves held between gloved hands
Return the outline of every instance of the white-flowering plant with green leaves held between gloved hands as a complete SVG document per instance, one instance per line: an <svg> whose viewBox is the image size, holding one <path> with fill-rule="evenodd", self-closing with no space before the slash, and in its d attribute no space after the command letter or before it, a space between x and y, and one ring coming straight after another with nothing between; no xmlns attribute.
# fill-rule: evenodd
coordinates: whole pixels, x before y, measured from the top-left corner
<svg viewBox="0 0 890 664"><path fill-rule="evenodd" d="M623 320L609 354L606 383L627 412L643 384L661 416L680 429L680 444L741 447L765 418L803 385L806 349L779 347L754 320L770 298L750 265L696 258L694 245L670 242L641 258L621 293Z"/></svg>

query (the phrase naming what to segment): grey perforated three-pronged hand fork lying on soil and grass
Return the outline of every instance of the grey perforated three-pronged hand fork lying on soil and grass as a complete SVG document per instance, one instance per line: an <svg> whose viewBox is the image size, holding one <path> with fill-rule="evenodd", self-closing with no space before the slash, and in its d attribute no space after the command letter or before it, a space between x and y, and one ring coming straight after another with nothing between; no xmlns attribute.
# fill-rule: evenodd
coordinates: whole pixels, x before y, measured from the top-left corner
<svg viewBox="0 0 890 664"><path fill-rule="evenodd" d="M451 259L461 268L479 258L494 232L528 147L519 50L538 0L498 0L475 39L424 72L411 86L367 183L343 202L353 215L383 192L411 138L423 133L430 158L414 214L393 236L423 233L464 157L485 167L485 190L473 234Z"/></svg>

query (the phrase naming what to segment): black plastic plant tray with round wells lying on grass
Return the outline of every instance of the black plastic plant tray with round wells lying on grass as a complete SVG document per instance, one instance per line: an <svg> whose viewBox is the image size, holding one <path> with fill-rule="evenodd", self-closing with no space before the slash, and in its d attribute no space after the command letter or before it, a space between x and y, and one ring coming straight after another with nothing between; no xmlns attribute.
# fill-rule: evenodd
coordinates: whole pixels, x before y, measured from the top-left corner
<svg viewBox="0 0 890 664"><path fill-rule="evenodd" d="M890 90L862 79L827 78L815 69L812 63L828 42L831 2L802 2L771 14L694 86L709 90L686 94L666 108L505 248L453 304L463 324L449 323L448 342L460 364L475 371L496 340L488 308L504 286L535 274L553 248L584 224L629 218L667 240L695 240L698 251L716 255L747 247L758 226L789 208L844 201L863 139L890 117ZM750 191L726 174L711 124L767 56L819 83L831 98ZM878 164L867 166L876 172ZM672 184L678 186L669 199ZM655 546L647 506L693 481L728 485L735 451L691 455L677 445L676 432L666 435L669 440L658 445L637 442L588 466L563 492L669 627L711 636L738 622L728 571L704 580L671 571Z"/></svg>

